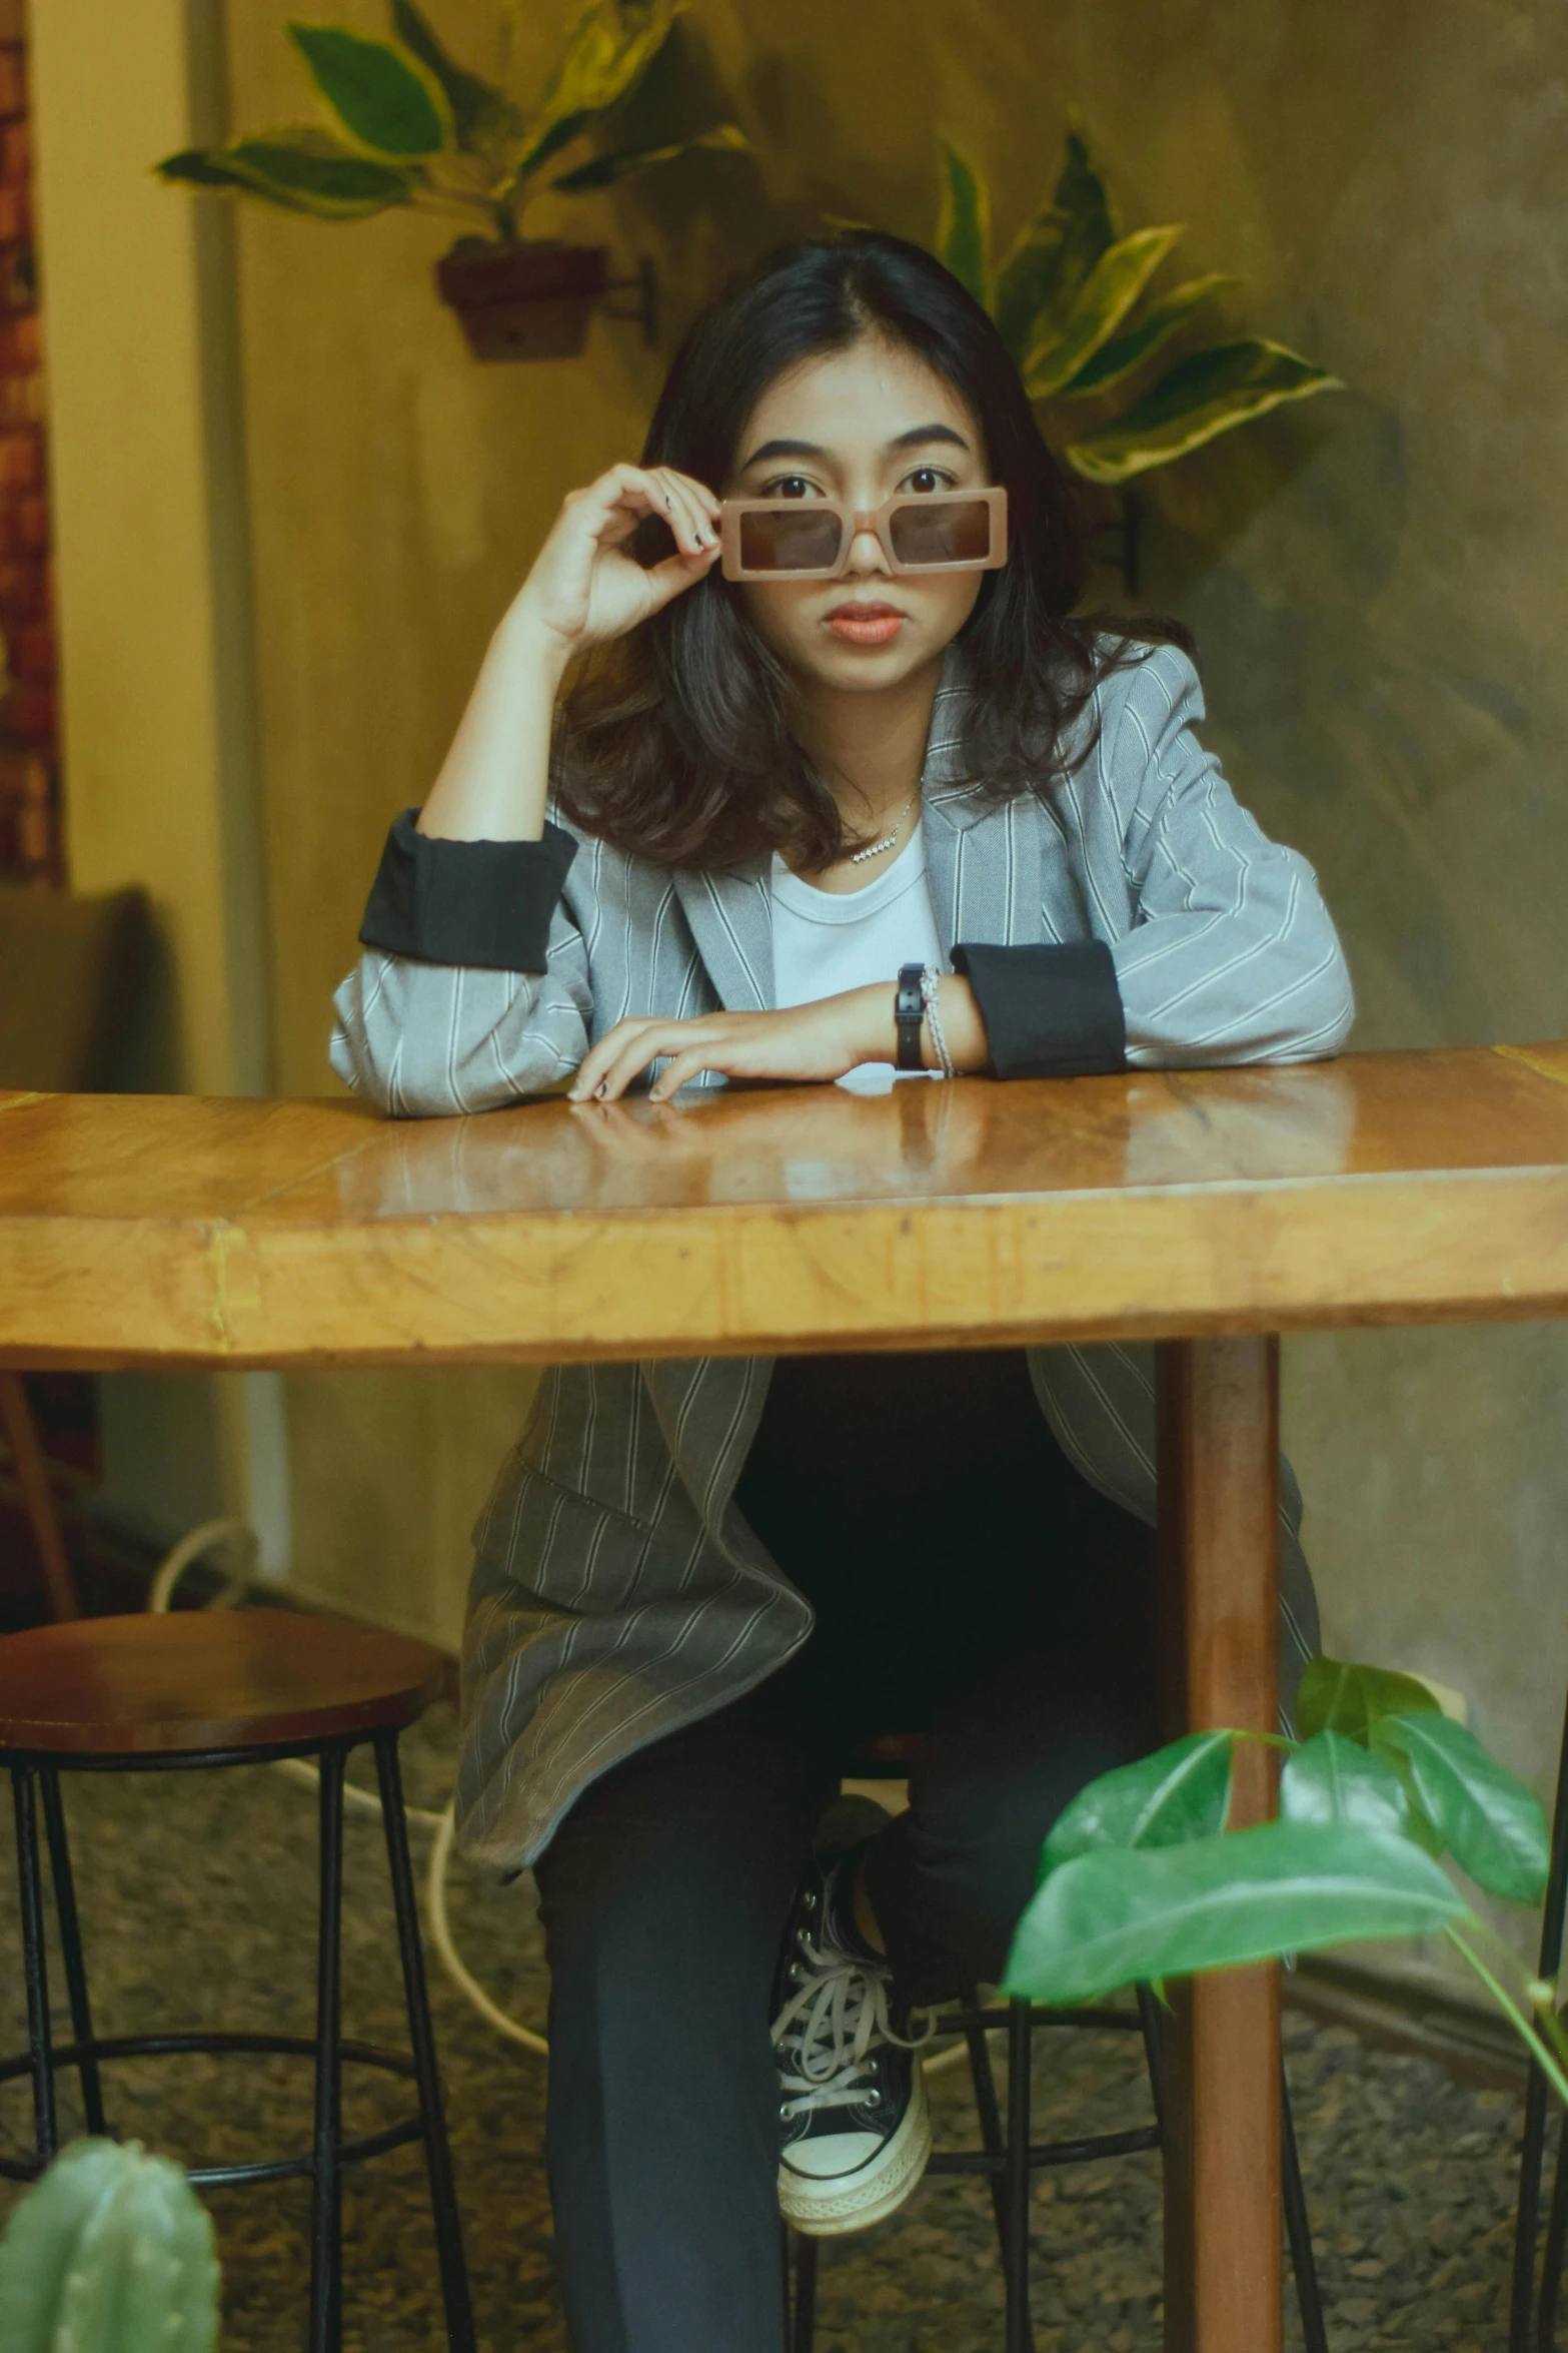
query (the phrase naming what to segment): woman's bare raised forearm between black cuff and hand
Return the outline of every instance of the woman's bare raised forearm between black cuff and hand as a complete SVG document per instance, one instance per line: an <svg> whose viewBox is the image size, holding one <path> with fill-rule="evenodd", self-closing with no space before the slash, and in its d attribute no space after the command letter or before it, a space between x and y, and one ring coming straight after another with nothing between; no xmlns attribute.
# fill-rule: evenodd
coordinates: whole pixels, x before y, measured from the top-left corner
<svg viewBox="0 0 1568 2353"><path fill-rule="evenodd" d="M447 842L543 840L550 729L564 666L564 647L512 605L418 812L421 833Z"/></svg>

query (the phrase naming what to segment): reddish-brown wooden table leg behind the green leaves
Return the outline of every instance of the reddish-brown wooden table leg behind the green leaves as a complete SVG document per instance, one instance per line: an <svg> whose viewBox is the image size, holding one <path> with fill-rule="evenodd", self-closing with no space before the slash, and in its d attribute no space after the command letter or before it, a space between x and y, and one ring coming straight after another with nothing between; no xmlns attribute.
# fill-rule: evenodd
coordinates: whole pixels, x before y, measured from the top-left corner
<svg viewBox="0 0 1568 2353"><path fill-rule="evenodd" d="M1171 1713L1279 1729L1279 1344L1159 1348L1159 1532ZM1274 1751L1237 1755L1232 1828L1274 1809ZM1279 1972L1173 1988L1166 2353L1279 2353Z"/></svg>

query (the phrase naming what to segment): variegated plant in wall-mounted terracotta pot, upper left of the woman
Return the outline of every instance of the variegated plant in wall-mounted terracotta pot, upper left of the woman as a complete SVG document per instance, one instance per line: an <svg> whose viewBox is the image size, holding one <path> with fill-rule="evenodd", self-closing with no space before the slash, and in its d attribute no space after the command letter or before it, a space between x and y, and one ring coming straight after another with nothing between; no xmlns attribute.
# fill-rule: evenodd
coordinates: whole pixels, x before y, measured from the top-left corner
<svg viewBox="0 0 1568 2353"><path fill-rule="evenodd" d="M564 195L614 188L691 148L743 148L733 122L698 129L644 122L621 146L602 139L663 52L679 0L592 0L567 35L534 106L461 66L414 0L393 0L393 38L348 26L292 24L331 127L249 132L216 148L183 148L158 172L190 188L259 198L317 221L364 221L411 207L473 224L435 266L480 360L569 358L611 285L604 245L527 240L522 216L545 186ZM677 96L677 92L672 94ZM602 144L557 169L588 136ZM651 320L646 271L644 322Z"/></svg>

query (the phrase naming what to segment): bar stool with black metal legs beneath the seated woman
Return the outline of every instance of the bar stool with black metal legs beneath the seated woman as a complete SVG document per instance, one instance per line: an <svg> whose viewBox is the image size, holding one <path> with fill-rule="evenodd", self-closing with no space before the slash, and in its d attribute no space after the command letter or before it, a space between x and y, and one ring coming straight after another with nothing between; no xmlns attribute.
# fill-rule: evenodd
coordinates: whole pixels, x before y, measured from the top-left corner
<svg viewBox="0 0 1568 2353"><path fill-rule="evenodd" d="M917 1737L884 1734L870 1741L856 1758L851 1777L858 1781L900 1781L917 1758ZM1034 2035L1056 2028L1143 2035L1154 2122L1140 2125L1133 2132L1091 2132L1074 2141L1034 2141L1030 2127ZM1006 2033L1006 2115L997 2099L997 2078L985 2040L987 2033L997 2031ZM1030 2320L1030 2184L1037 2172L1048 2172L1056 2165L1088 2165L1095 2158L1126 2158L1143 2148L1159 2148L1164 2125L1159 2005L1145 1986L1138 1988L1135 2009L1046 2009L1041 2002L1023 2000L983 2002L978 1988L969 1988L961 2007L938 2012L936 2038L945 2035L961 2035L969 2049L980 2148L936 2148L926 2160L926 2174L980 2174L990 2184L1006 2299L1004 2346L1006 2353L1034 2353L1034 2325ZM1281 2172L1286 2235L1291 2242L1305 2353L1328 2353L1288 2082L1281 2082ZM785 2339L790 2353L813 2353L816 2346L818 2249L820 2240L816 2238L799 2235L795 2240L795 2294L790 2294L790 2266L785 2266Z"/></svg>

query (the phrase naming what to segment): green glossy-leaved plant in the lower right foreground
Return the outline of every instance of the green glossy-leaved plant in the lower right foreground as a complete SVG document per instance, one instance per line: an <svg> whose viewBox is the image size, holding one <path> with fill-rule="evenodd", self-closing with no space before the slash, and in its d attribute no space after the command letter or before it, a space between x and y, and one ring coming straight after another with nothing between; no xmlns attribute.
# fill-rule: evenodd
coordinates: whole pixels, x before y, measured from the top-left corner
<svg viewBox="0 0 1568 2353"><path fill-rule="evenodd" d="M1227 1831L1241 1732L1194 1732L1079 1791L1046 1838L1006 1993L1074 2005L1371 1937L1441 1934L1568 2106L1559 1988L1521 1967L1436 1857L1535 1904L1535 1795L1413 1675L1314 1659L1284 1751L1279 1821ZM1258 1734L1253 1734L1258 1737Z"/></svg>

